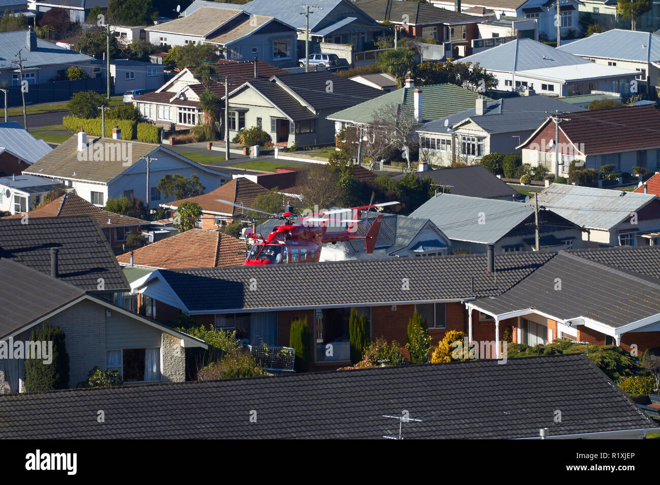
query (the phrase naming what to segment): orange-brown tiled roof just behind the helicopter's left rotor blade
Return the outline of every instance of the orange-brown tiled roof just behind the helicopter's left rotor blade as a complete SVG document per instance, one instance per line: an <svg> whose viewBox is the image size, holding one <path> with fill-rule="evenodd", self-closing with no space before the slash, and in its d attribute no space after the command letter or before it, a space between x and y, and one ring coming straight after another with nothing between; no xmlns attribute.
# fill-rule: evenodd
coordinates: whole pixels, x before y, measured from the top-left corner
<svg viewBox="0 0 660 485"><path fill-rule="evenodd" d="M212 212L214 214L232 214L232 216L240 216L245 210L233 207L231 205L218 202L217 199L229 201L234 204L240 204L245 207L251 207L257 195L268 193L268 189L262 187L258 183L254 183L245 177L233 179L220 185L217 189L197 195L196 197L189 197L180 201L174 201L163 204L165 207L179 207L183 202L194 202L199 204L203 212Z"/></svg>

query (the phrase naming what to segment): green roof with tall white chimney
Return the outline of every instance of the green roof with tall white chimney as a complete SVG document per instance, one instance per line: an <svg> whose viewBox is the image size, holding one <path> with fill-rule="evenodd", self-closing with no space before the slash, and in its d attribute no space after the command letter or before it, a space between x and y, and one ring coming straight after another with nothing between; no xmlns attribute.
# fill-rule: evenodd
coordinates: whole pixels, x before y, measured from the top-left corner
<svg viewBox="0 0 660 485"><path fill-rule="evenodd" d="M477 96L479 96L478 92L461 88L455 84L418 86L418 89L422 90L423 122L474 108ZM486 100L490 100L490 98L486 98ZM327 119L369 125L374 123L374 113L391 104L402 105L406 110L412 112L414 110L414 88L401 88L388 92L373 100L333 113Z"/></svg>

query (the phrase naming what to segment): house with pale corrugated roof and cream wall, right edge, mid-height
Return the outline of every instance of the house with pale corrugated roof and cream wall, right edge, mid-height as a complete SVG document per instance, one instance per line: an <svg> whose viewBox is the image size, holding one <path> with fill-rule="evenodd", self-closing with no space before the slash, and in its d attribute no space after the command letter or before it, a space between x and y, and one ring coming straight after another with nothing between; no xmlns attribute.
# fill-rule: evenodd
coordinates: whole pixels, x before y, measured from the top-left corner
<svg viewBox="0 0 660 485"><path fill-rule="evenodd" d="M583 247L658 242L655 237L642 237L660 230L660 199L651 193L552 183L536 197L539 207L546 207L586 230L582 234Z"/></svg>

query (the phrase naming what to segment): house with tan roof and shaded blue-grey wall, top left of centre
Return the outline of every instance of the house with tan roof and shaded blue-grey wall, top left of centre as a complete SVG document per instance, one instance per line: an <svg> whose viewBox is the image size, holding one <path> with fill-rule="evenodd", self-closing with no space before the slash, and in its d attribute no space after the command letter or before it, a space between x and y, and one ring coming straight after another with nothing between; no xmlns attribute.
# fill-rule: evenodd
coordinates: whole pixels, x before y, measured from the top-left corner
<svg viewBox="0 0 660 485"><path fill-rule="evenodd" d="M226 59L242 61L254 56L278 67L298 65L296 29L273 15L257 15L238 5L218 3L186 11L181 18L146 28L156 46L212 44Z"/></svg>

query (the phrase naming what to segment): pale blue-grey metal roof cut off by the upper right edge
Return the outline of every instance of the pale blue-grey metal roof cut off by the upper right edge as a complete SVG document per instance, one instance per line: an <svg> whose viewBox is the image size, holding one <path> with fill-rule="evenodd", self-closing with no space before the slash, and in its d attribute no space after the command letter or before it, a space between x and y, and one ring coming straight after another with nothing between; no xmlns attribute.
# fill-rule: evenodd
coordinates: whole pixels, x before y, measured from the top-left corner
<svg viewBox="0 0 660 485"><path fill-rule="evenodd" d="M660 61L660 36L651 32L614 28L601 34L575 40L558 47L560 51L577 55L626 59L628 61Z"/></svg>

